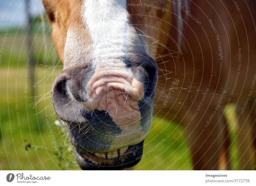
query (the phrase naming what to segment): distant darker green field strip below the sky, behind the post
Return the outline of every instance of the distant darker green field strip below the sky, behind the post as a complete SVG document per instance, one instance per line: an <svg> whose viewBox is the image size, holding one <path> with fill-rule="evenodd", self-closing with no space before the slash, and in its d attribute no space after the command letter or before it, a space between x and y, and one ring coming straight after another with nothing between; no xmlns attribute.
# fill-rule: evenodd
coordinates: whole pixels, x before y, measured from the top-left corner
<svg viewBox="0 0 256 186"><path fill-rule="evenodd" d="M48 24L46 24L47 29L48 27ZM6 32L0 32L0 45L4 36L6 36L6 42L3 43L2 58L0 60L1 68L25 68L28 53L33 53L29 57L34 58L37 66L55 66L59 62L50 34L44 37L40 30L37 31L35 29L32 36L32 50L27 47L28 35L26 31L10 30L7 34Z"/></svg>

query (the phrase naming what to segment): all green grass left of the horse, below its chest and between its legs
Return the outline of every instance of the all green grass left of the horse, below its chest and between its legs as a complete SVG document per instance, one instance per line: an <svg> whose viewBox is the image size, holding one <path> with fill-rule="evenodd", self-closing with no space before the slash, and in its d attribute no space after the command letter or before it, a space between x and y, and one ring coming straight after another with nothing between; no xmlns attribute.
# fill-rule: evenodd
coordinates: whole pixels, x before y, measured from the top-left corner
<svg viewBox="0 0 256 186"><path fill-rule="evenodd" d="M33 89L26 91L28 50L25 35L24 32L9 33L0 66L0 170L79 169L65 129L55 124L56 121L60 123L60 119L54 114L51 88L62 67L56 66L58 58L51 38L44 41L42 34L34 33L36 97L31 97ZM233 109L231 105L226 112L231 120L235 120ZM230 126L234 139L235 129ZM155 117L144 144L143 158L136 170L192 168L183 128L175 123ZM231 150L236 150L236 143ZM231 155L232 162L237 162L237 155Z"/></svg>

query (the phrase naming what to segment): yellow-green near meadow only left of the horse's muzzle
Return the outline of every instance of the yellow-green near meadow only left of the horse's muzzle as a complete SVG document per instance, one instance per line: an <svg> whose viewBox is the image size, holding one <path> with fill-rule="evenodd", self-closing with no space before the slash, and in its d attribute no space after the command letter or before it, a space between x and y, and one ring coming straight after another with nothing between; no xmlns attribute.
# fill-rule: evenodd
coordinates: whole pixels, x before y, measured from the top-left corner
<svg viewBox="0 0 256 186"><path fill-rule="evenodd" d="M40 73L41 71L43 69L37 69L37 77L43 79L44 73ZM4 97L0 100L2 110L0 168L2 170L58 170L65 169L67 163L71 164L70 166L76 165L71 150L68 146L63 146L66 139L65 132L63 133L64 128L54 124L59 118L52 115L54 112L52 105L49 105L50 97L42 99L43 101L35 105L35 99L24 93L24 72L25 69L22 68L0 69L1 97ZM41 85L50 81L52 79L40 81L37 84L38 93L40 92L38 95L42 95L36 97L37 101L43 97L44 91L49 92L51 89L50 86ZM18 84L17 87L15 83ZM55 142L54 139L57 148L52 145Z"/></svg>

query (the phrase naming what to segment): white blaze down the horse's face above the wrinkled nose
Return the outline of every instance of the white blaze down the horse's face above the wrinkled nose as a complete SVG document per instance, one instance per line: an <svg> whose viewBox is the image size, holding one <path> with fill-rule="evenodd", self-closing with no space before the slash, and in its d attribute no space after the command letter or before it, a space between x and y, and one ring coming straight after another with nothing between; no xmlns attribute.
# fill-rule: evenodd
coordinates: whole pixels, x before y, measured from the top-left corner
<svg viewBox="0 0 256 186"><path fill-rule="evenodd" d="M127 54L135 30L129 25L126 0L85 0L83 19L97 67L115 63Z"/></svg>

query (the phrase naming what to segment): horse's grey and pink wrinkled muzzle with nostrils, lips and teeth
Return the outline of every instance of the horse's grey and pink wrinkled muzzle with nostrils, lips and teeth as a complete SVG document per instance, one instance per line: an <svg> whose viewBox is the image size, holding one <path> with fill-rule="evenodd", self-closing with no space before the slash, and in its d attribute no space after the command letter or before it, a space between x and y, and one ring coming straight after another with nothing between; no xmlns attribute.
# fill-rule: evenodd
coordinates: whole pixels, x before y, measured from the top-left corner
<svg viewBox="0 0 256 186"><path fill-rule="evenodd" d="M157 81L150 62L125 69L66 68L55 79L54 110L65 121L82 169L123 169L139 162Z"/></svg>

